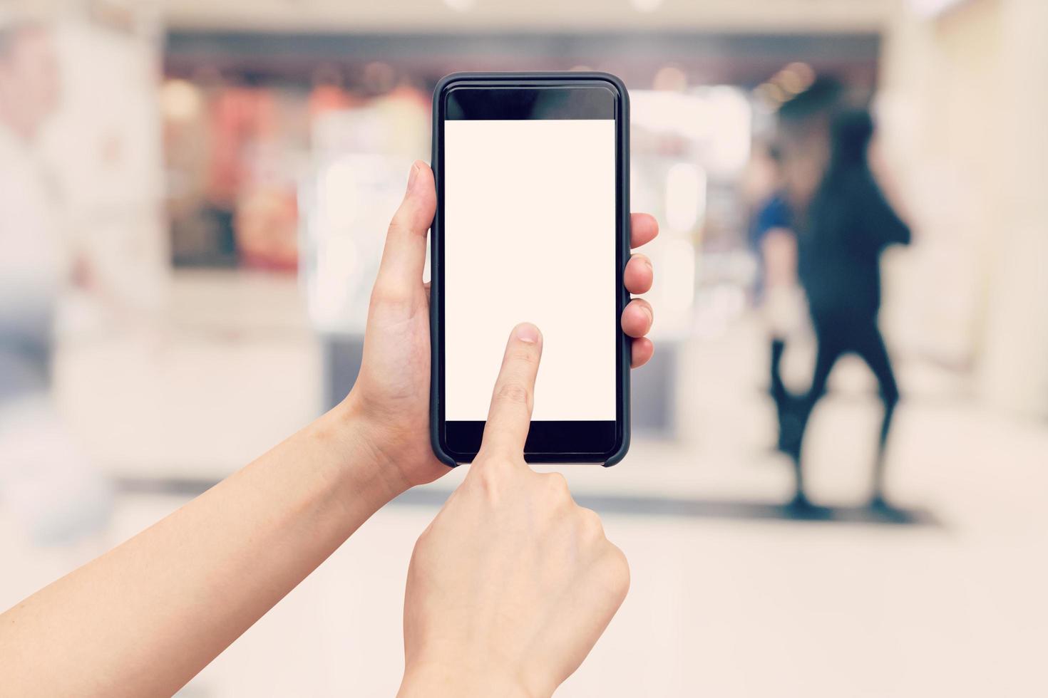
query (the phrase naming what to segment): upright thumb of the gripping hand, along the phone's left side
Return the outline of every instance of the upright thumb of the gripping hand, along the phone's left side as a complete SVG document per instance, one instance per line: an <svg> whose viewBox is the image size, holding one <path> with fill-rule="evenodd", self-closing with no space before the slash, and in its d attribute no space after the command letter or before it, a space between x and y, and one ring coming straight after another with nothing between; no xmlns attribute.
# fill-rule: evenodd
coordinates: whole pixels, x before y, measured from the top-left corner
<svg viewBox="0 0 1048 698"><path fill-rule="evenodd" d="M408 190L386 233L375 291L381 297L406 297L422 285L425 233L437 207L433 172L421 160L411 166Z"/></svg>

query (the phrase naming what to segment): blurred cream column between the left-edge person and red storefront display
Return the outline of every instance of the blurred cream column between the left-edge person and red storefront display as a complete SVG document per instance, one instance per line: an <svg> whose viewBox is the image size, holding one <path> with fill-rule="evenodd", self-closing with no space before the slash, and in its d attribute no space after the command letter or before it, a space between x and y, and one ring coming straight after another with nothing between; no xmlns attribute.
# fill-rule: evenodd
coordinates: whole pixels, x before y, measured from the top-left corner
<svg viewBox="0 0 1048 698"><path fill-rule="evenodd" d="M103 289L92 300L153 310L168 292L171 256L158 99L161 27L153 2L106 6L108 14L56 15L62 109L44 150L63 193L67 233Z"/></svg>

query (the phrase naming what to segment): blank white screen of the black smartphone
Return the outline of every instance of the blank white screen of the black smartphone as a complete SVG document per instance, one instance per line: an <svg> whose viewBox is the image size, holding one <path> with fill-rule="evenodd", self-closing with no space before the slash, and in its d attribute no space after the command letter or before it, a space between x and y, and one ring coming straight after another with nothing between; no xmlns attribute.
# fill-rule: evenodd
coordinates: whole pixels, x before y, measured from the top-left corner
<svg viewBox="0 0 1048 698"><path fill-rule="evenodd" d="M512 328L536 421L615 420L615 121L444 121L447 421L483 421Z"/></svg>

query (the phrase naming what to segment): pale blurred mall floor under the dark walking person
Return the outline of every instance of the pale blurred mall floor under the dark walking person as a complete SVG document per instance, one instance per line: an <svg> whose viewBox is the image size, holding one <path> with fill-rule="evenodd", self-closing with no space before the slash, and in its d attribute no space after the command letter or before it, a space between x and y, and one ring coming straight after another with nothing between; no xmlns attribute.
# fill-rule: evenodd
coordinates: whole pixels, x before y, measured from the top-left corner
<svg viewBox="0 0 1048 698"><path fill-rule="evenodd" d="M604 509L633 582L558 695L1048 695L1048 426L988 412L908 365L891 491L935 521L749 519L732 502L780 501L790 478L767 450L760 361L744 348L714 342L689 358L694 428L681 438L640 438L614 469L567 472ZM816 413L807 452L813 497L842 505L866 494L877 421L851 373ZM460 477L380 512L184 695L393 695L409 555ZM660 508L667 497L686 505ZM28 548L0 522L13 570L0 575L0 606L183 500L125 494L107 540L72 551Z"/></svg>

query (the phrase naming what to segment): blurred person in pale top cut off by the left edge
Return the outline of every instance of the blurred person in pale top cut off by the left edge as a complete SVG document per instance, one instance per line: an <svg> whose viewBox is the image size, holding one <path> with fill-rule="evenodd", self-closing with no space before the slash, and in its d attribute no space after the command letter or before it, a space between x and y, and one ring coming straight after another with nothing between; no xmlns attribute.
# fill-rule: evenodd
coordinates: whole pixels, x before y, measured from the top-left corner
<svg viewBox="0 0 1048 698"><path fill-rule="evenodd" d="M48 29L0 18L0 504L43 544L99 530L110 499L50 396L54 318L75 266L37 150L59 99Z"/></svg>

